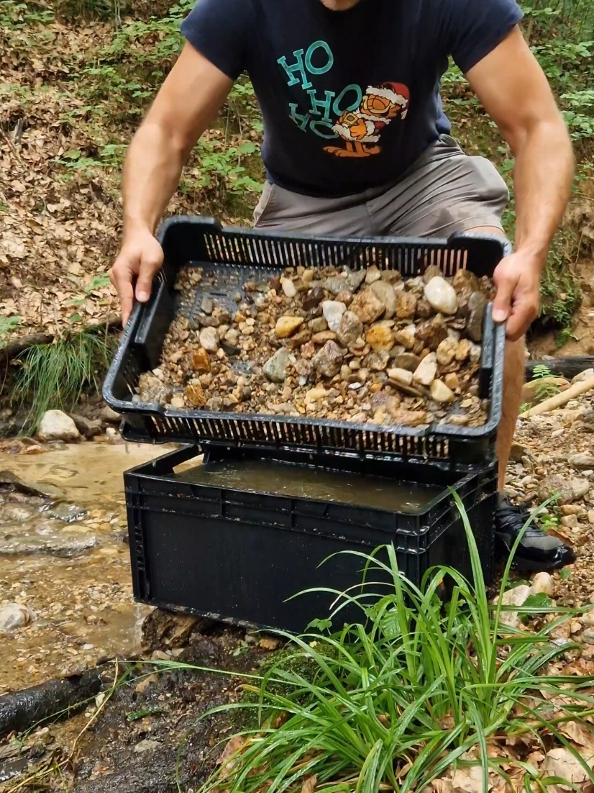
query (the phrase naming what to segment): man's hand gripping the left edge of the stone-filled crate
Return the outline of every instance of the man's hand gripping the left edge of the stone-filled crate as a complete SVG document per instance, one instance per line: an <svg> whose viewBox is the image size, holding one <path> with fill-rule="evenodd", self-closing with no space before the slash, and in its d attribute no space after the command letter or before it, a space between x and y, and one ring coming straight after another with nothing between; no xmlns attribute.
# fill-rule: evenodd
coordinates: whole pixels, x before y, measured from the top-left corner
<svg viewBox="0 0 594 793"><path fill-rule="evenodd" d="M120 296L124 328L128 324L134 298L140 303L149 299L154 275L162 263L163 249L149 229L124 235L120 254L109 272L109 280Z"/></svg>

